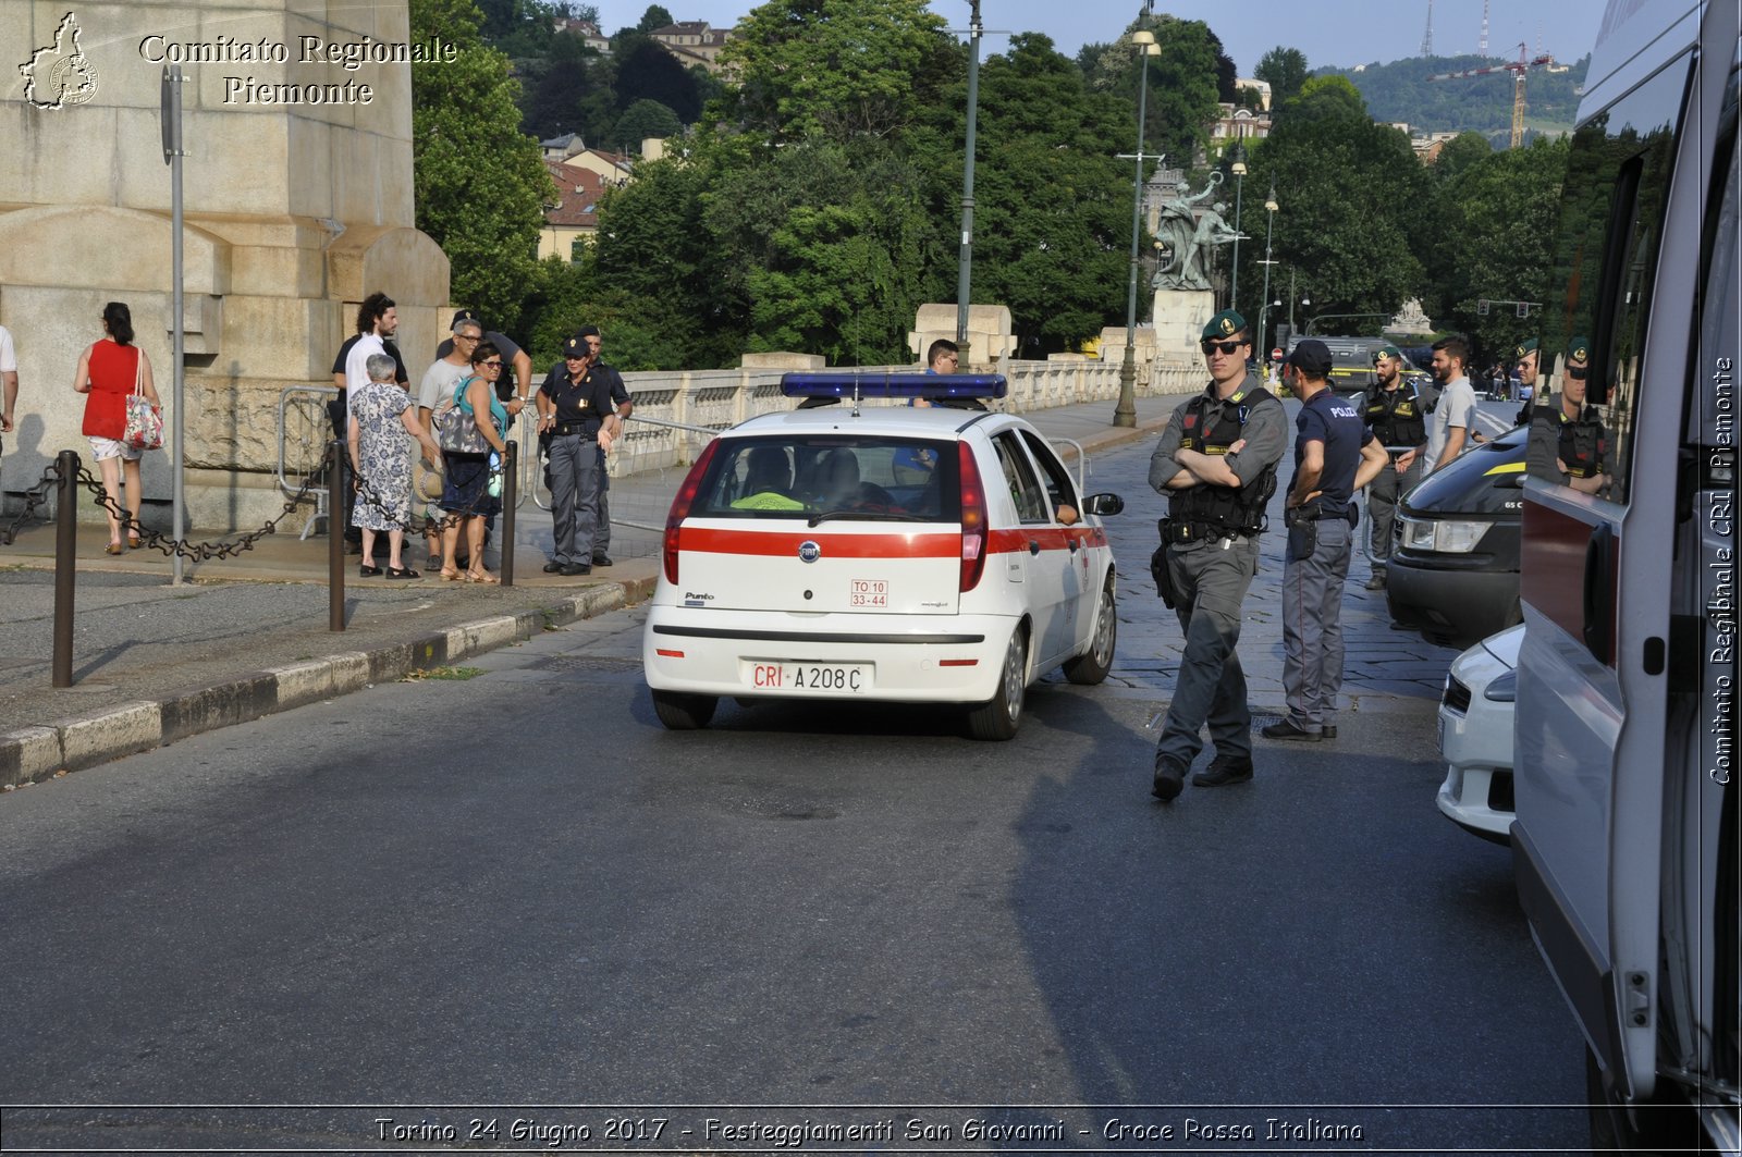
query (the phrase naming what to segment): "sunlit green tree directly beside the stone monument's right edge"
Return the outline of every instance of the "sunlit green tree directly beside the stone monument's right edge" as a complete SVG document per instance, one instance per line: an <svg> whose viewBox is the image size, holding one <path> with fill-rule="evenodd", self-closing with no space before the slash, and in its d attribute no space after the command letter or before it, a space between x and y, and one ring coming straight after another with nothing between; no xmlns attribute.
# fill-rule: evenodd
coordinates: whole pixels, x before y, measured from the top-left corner
<svg viewBox="0 0 1742 1157"><path fill-rule="evenodd" d="M521 132L509 61L479 38L470 0L411 0L411 38L442 35L451 64L411 66L416 223L453 265L451 296L502 328L521 322L544 206L538 141Z"/></svg>

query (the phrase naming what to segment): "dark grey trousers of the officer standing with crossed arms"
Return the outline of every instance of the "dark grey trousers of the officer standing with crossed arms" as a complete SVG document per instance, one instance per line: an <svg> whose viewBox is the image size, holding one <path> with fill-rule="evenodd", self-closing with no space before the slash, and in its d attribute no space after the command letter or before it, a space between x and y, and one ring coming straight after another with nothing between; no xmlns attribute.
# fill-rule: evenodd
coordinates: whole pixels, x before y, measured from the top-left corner
<svg viewBox="0 0 1742 1157"><path fill-rule="evenodd" d="M1233 538L1226 551L1218 542L1167 551L1185 631L1185 655L1167 721L1155 744L1160 756L1192 767L1204 749L1198 732L1209 725L1218 756L1252 758L1252 713L1246 706L1246 673L1240 669L1240 605L1258 573L1258 538Z"/></svg>

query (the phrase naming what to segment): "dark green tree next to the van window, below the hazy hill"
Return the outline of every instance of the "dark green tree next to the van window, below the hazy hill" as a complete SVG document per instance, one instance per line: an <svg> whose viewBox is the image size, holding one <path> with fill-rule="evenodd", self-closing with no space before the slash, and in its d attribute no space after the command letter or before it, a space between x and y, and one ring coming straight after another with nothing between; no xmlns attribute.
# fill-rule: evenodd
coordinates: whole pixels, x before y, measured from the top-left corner
<svg viewBox="0 0 1742 1157"><path fill-rule="evenodd" d="M1550 284L1550 249L1570 152L1568 138L1493 152L1444 188L1444 235L1455 242L1434 263L1428 315L1441 328L1469 333L1486 355L1536 336L1542 317L1533 310L1521 319L1510 305L1482 315L1481 298L1536 301L1552 310L1564 296L1564 284Z"/></svg>

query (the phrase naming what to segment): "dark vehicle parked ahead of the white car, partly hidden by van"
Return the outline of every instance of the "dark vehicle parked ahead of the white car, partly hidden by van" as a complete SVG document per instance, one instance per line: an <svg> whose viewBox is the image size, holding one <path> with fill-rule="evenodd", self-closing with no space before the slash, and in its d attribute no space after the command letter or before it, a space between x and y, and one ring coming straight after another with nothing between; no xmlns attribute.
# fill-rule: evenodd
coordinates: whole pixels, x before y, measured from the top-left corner
<svg viewBox="0 0 1742 1157"><path fill-rule="evenodd" d="M1474 646L1519 617L1524 444L1479 443L1404 495L1387 568L1392 619L1432 643Z"/></svg>

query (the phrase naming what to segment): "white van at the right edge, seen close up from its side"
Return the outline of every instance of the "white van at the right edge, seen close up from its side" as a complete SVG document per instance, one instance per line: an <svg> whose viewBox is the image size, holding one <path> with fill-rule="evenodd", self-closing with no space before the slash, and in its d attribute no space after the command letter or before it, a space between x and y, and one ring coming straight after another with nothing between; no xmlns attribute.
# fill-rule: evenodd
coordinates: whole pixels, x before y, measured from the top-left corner
<svg viewBox="0 0 1742 1157"><path fill-rule="evenodd" d="M1604 1150L1739 1152L1739 52L1735 0L1611 0L1543 315L1545 352L1589 338L1594 409L1556 416L1561 357L1524 488L1512 849ZM1594 493L1563 472L1577 437Z"/></svg>

